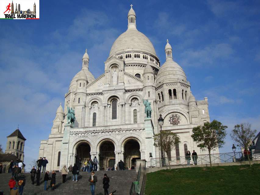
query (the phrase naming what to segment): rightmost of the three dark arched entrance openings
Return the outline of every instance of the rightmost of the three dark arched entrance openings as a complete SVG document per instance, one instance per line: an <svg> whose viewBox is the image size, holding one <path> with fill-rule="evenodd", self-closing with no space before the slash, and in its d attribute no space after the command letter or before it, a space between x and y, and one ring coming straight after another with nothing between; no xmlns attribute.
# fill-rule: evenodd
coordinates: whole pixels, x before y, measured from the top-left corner
<svg viewBox="0 0 260 195"><path fill-rule="evenodd" d="M124 163L131 168L136 165L136 160L141 159L140 145L136 140L129 140L124 146Z"/></svg>

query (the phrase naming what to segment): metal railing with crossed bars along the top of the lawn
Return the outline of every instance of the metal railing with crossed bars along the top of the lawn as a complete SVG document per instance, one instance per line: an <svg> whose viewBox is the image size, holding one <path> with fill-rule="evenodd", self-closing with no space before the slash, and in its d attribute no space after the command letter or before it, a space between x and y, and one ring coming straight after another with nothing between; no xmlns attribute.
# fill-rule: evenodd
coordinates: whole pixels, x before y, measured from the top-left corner
<svg viewBox="0 0 260 195"><path fill-rule="evenodd" d="M237 162L237 161L248 161L248 156L244 152L228 152L219 154L210 154L211 163L226 163L226 162ZM260 151L254 151L254 153L249 154L250 160L260 160ZM163 162L163 163L162 163ZM198 164L208 164L210 163L209 154L202 154L196 156L178 156L168 158L151 158L148 165L150 167L161 167L172 165L198 165Z"/></svg>

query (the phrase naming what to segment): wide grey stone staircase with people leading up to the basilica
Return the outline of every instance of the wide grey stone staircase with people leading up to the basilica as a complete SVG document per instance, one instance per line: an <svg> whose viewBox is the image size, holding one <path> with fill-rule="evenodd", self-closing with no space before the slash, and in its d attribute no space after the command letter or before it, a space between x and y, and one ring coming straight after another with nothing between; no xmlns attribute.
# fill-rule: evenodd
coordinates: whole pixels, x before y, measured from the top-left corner
<svg viewBox="0 0 260 195"><path fill-rule="evenodd" d="M115 195L129 195L132 182L136 179L135 170L124 171L96 171L95 175L98 177L98 182L95 187L95 195L103 195L103 177L104 173L110 179L109 193L116 190ZM89 186L89 176L91 173L80 172L78 175L78 182L72 181L72 173L69 173L66 177L66 182L62 183L61 173L56 173L56 188L54 191L50 188L50 180L48 181L47 191L44 191L44 175L41 173L40 186L36 186L36 183L32 185L30 179L30 173L23 173L26 177L26 184L24 186L23 195L45 195L45 194L62 194L62 195L91 195ZM52 174L49 173L49 176ZM10 194L8 186L9 179L11 179L11 173L0 174L0 190L4 190L4 195ZM35 179L36 181L36 179ZM17 183L17 182L16 182Z"/></svg>

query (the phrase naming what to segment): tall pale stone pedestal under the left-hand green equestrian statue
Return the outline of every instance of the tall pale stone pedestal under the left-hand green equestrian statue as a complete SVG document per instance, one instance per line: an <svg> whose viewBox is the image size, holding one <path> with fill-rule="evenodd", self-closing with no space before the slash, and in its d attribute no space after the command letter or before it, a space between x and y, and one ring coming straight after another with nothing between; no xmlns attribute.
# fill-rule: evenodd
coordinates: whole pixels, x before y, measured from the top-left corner
<svg viewBox="0 0 260 195"><path fill-rule="evenodd" d="M66 165L66 167L69 167L69 133L70 128L73 128L72 125L66 124L64 133L63 133L63 139L62 139L62 145L61 145L61 151L60 151L60 170L63 167L63 165Z"/></svg>

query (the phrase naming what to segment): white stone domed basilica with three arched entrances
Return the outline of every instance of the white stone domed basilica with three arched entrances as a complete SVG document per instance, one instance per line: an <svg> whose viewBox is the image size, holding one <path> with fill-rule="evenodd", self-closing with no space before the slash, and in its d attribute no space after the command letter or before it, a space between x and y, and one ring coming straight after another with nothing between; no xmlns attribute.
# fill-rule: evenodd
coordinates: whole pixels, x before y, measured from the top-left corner
<svg viewBox="0 0 260 195"><path fill-rule="evenodd" d="M120 160L127 167L137 159L149 162L149 153L159 159L153 134L160 130L160 114L162 130L177 133L181 139L169 154L172 158L178 160L187 150L204 154L191 134L193 127L210 120L208 99L195 100L183 69L173 61L168 40L166 61L160 66L153 44L137 30L132 7L127 19L127 30L112 45L102 75L94 78L87 50L83 55L82 68L65 94L64 110L60 105L48 140L41 140L39 157L48 159L47 170L60 170L60 166L94 156L101 168ZM143 100L151 103L151 119L146 118ZM74 126L66 124L67 107L75 110Z"/></svg>

